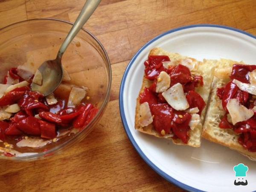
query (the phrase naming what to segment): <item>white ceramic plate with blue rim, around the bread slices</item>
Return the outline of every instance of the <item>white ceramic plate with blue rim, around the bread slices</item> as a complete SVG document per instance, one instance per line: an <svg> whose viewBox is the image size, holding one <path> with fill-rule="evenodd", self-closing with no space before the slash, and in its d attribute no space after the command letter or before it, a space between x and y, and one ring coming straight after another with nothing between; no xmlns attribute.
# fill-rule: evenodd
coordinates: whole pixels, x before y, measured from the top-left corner
<svg viewBox="0 0 256 192"><path fill-rule="evenodd" d="M256 190L256 162L236 151L202 140L200 148L174 145L134 129L134 114L148 52L161 47L201 60L229 58L256 64L256 37L226 26L193 25L166 32L142 47L132 58L122 79L119 106L125 131L140 156L166 180L189 191ZM235 186L233 166L249 167L248 185Z"/></svg>

